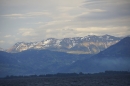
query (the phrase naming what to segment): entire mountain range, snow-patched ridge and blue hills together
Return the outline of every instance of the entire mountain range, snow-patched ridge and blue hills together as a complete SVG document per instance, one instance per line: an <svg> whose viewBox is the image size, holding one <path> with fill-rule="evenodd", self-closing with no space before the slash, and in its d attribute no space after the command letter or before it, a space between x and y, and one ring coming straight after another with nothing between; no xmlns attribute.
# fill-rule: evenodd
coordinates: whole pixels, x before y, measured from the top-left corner
<svg viewBox="0 0 130 86"><path fill-rule="evenodd" d="M12 48L14 50L12 52L23 49L23 51L17 51L17 53L0 51L0 77L6 75L96 73L105 70L130 70L130 37L118 38L104 35L64 38L60 42L58 40L47 39L36 44L16 43ZM32 47L30 48L31 44ZM73 46L67 48L63 45ZM59 47L54 48L54 46ZM66 52L75 50L78 53L81 50L87 54L70 54L66 53L65 50Z"/></svg>

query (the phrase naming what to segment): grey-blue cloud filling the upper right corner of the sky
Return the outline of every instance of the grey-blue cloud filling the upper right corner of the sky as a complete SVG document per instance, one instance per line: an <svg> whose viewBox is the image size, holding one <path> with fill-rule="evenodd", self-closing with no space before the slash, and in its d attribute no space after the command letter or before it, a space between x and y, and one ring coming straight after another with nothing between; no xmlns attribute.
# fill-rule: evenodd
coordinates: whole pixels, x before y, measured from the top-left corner
<svg viewBox="0 0 130 86"><path fill-rule="evenodd" d="M130 16L130 11L128 11L130 8L129 0L87 0L83 7L87 9L96 8L106 10L104 13L93 14L94 19L110 19Z"/></svg>

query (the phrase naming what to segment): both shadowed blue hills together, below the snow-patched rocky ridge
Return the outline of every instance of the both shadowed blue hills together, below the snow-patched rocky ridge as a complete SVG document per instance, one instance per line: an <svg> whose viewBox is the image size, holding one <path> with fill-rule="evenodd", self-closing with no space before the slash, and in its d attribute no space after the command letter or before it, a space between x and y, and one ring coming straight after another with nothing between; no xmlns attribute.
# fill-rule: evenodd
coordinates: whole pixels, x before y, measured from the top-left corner
<svg viewBox="0 0 130 86"><path fill-rule="evenodd" d="M28 49L17 53L0 51L0 77L129 70L129 44L130 37L126 37L98 54L69 54L47 49Z"/></svg>

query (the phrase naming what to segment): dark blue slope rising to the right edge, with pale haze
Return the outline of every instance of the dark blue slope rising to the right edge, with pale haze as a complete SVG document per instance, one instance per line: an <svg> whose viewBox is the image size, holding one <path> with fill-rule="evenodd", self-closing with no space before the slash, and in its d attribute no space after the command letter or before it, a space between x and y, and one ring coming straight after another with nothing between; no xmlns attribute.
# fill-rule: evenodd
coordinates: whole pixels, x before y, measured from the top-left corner
<svg viewBox="0 0 130 86"><path fill-rule="evenodd" d="M92 56L64 67L61 72L101 72L105 70L130 70L130 37Z"/></svg>

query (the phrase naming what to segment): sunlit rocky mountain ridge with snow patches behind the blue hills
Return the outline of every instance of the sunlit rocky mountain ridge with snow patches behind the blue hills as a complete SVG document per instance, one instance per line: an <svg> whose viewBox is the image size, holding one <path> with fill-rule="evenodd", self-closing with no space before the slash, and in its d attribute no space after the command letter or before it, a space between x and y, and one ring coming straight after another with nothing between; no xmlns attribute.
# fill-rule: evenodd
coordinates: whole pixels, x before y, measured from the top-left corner
<svg viewBox="0 0 130 86"><path fill-rule="evenodd" d="M48 49L52 51L60 51L74 54L96 54L117 43L120 40L121 38L110 35L88 35L85 37L64 39L48 38L40 42L18 42L13 47L8 49L7 52L16 53L28 49Z"/></svg>

